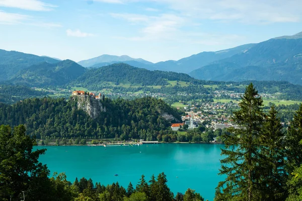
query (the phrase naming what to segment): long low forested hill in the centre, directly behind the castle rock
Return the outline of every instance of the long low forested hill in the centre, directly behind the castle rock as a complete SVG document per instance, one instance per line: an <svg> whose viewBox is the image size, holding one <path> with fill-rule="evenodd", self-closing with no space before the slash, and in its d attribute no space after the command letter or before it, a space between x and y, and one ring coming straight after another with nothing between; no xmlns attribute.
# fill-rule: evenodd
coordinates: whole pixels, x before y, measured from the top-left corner
<svg viewBox="0 0 302 201"><path fill-rule="evenodd" d="M168 85L168 80L191 81L194 78L184 73L150 71L136 68L124 63L116 63L98 69L92 69L81 75L70 85L96 87L112 82L112 84L132 85Z"/></svg>

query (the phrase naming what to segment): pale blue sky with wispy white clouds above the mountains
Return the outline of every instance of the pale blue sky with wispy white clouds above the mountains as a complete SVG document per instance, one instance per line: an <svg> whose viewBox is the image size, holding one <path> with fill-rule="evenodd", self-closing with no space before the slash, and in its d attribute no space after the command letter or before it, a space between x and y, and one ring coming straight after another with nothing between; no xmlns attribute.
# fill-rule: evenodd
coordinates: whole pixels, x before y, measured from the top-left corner
<svg viewBox="0 0 302 201"><path fill-rule="evenodd" d="M301 0L0 0L0 49L151 62L302 31Z"/></svg>

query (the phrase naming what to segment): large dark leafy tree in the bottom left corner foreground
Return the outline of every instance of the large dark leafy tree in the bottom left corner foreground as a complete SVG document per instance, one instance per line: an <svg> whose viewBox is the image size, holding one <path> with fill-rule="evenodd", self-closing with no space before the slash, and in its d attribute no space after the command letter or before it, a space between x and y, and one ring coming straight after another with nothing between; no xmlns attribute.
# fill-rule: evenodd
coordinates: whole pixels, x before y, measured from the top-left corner
<svg viewBox="0 0 302 201"><path fill-rule="evenodd" d="M13 132L10 126L0 126L0 197L5 200L9 200L11 196L12 200L19 200L22 191L27 195L31 193L31 197L36 198L39 192L35 190L43 189L35 184L49 184L49 171L38 161L45 149L33 151L36 140L25 133L23 125L15 127Z"/></svg>

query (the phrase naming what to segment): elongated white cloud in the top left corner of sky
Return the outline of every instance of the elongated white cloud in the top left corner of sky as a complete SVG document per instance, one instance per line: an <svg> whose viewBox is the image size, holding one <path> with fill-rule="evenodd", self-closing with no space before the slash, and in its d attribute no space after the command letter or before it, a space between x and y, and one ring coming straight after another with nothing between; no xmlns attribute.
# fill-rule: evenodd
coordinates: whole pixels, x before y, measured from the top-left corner
<svg viewBox="0 0 302 201"><path fill-rule="evenodd" d="M50 11L56 7L39 0L0 0L0 7L18 8L29 11Z"/></svg>

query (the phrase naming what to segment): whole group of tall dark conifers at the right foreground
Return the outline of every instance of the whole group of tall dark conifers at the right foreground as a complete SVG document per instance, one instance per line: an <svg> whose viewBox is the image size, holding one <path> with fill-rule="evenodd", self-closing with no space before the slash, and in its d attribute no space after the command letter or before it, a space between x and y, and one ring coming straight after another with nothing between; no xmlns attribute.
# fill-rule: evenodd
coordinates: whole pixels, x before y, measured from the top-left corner
<svg viewBox="0 0 302 201"><path fill-rule="evenodd" d="M251 83L234 112L236 128L229 128L221 154L215 200L302 200L302 106L284 131L272 105Z"/></svg>

